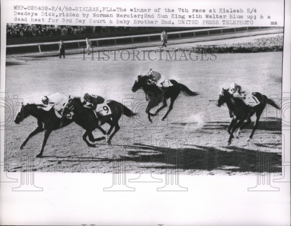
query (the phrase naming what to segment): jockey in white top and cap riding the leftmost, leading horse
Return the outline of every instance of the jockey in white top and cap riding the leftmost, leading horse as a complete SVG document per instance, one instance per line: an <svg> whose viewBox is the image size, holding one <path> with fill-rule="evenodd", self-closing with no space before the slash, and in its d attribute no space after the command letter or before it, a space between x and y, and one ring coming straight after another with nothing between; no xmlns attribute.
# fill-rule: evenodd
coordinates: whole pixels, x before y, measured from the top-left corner
<svg viewBox="0 0 291 226"><path fill-rule="evenodd" d="M53 93L48 96L41 97L41 102L43 103L43 106L38 106L37 108L41 108L45 111L49 111L52 107L56 109L56 111L59 113L56 114L58 118L62 118L61 111L64 108L64 104L68 101L68 98L65 95L62 95L59 92Z"/></svg>

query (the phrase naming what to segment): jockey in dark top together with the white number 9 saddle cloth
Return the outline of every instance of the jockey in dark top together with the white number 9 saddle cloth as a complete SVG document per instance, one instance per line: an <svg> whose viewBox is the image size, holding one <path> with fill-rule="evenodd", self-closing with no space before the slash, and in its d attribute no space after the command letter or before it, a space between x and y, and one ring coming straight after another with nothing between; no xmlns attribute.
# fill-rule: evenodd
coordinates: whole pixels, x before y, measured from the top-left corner
<svg viewBox="0 0 291 226"><path fill-rule="evenodd" d="M97 95L89 95L88 93L85 93L83 98L86 102L84 104L84 107L92 109L96 113L98 113L99 115L97 115L97 117L101 116L100 118L102 118L102 116L104 115L111 114L111 110L103 97Z"/></svg>

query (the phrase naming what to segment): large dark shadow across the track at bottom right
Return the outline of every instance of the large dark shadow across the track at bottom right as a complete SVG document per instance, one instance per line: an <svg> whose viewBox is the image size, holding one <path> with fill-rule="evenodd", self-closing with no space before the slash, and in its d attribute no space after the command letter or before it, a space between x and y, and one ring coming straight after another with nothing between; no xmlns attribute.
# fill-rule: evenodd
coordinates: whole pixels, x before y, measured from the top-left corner
<svg viewBox="0 0 291 226"><path fill-rule="evenodd" d="M181 170L222 170L225 172L257 172L257 153L254 150L233 146L223 147L228 151L215 147L188 145L179 151L179 165ZM150 150L150 154L148 153ZM127 152L127 161L146 161L165 163L165 151L177 151L175 148L161 149L156 146L140 145L140 149ZM150 156L148 156L150 155ZM281 172L281 153L270 153L270 172ZM165 166L153 166L165 168Z"/></svg>

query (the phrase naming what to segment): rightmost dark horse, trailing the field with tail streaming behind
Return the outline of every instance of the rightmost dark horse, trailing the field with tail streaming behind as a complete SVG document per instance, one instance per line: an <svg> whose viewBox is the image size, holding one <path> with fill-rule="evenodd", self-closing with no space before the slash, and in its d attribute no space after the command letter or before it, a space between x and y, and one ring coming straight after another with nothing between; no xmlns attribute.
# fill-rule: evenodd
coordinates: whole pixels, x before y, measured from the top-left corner
<svg viewBox="0 0 291 226"><path fill-rule="evenodd" d="M274 100L267 98L265 95L262 95L259 92L254 92L253 95L258 98L258 100L260 101L260 104L254 106L252 108L253 111L250 112L249 107L246 106L246 104L244 104L244 102L241 99L233 97L233 95L231 95L228 92L228 89L227 90L222 89L222 93L219 95L219 99L216 105L220 107L221 105L226 103L226 106L228 107L228 110L230 113L230 117L232 118L227 128L227 131L230 134L229 139L228 139L228 145L231 144L231 139L234 137L233 133L235 129L237 128L243 129L244 127L246 127L246 125L251 123L250 117L253 114L256 114L256 121L254 123L253 131L251 132L249 139L253 137L253 134L256 128L258 127L260 116L267 103L277 109L281 109L279 106L277 106ZM244 122L244 120L246 120L246 122ZM238 134L239 134L239 131L238 131Z"/></svg>

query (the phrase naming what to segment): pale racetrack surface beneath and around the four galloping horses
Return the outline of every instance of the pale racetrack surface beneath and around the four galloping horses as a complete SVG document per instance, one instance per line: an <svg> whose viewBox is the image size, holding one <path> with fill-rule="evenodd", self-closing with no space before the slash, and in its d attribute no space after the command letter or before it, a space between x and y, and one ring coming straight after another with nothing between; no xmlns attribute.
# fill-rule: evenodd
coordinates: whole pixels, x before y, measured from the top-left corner
<svg viewBox="0 0 291 226"><path fill-rule="evenodd" d="M123 61L120 56L116 60L112 60L112 54L110 56L108 61L90 60L89 57L82 60L81 54L66 56L65 59L22 58L18 63L6 66L6 92L9 97L18 95L17 98L23 99L24 103L40 103L42 95L54 92L71 96L88 92L124 104L132 102L133 111L140 113L140 118L123 116L120 119L120 131L113 138L115 145L110 147L103 142L97 142L96 148L88 147L82 140L84 129L74 122L53 131L43 157L35 159L37 172L111 173L112 152L126 151L128 173L139 173L141 169L145 173L152 170L155 174L162 174L165 170L165 147L176 150L176 143L182 140L187 145L179 150L181 174L248 175L256 173L256 150L269 150L268 143L275 140L271 161L277 162L277 166L272 166L271 172L281 174L281 127L276 108L267 106L261 115L253 137L260 147L246 141L253 123L228 146L228 109L226 106L218 108L214 101L209 100L217 100L222 87L236 81L267 97L273 95L272 98L277 101L274 95L280 97L282 93L282 52L217 54L215 61L200 60L201 55L196 61ZM162 56L165 59L166 53L162 52ZM165 113L163 111L151 125L145 114L147 103L139 98L143 94L138 96L138 92L131 91L136 76L148 72L150 68L164 74L166 79L175 79L200 93L196 97L180 94L168 118L160 121ZM134 99L130 98L131 95ZM11 124L5 128L8 129L5 134L6 161L20 161L20 152L13 147L13 142L18 138L23 141L36 128L36 119L30 116L24 119L22 127L16 127L13 120L17 109L15 107L9 111L6 110L6 119L10 118L7 125ZM104 126L104 129L108 128L108 125ZM9 129L17 131L12 133ZM274 132L274 129L278 131ZM42 139L43 134L37 134L36 138ZM93 135L102 136L99 130L95 130ZM126 140L128 146L124 148ZM31 141L24 149L31 149ZM35 155L39 151L40 147L37 147ZM8 170L19 171L19 167Z"/></svg>

